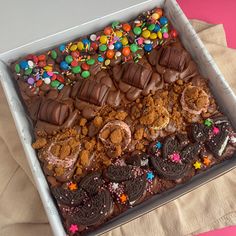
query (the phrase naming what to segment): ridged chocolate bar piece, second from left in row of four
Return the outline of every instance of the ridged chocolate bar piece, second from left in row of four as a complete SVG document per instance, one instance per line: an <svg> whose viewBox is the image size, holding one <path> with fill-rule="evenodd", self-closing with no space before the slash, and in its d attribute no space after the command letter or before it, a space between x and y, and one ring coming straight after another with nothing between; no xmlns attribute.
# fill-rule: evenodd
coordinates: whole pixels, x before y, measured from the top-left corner
<svg viewBox="0 0 236 236"><path fill-rule="evenodd" d="M110 88L105 84L87 79L83 80L77 93L77 98L97 106L102 106L106 102L109 90Z"/></svg>

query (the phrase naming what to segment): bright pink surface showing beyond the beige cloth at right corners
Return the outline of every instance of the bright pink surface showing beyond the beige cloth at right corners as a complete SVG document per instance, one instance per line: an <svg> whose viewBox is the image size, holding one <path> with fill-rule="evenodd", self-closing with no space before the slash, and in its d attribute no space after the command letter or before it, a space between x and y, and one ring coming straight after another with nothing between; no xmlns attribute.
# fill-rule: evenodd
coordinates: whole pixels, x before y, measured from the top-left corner
<svg viewBox="0 0 236 236"><path fill-rule="evenodd" d="M236 48L236 0L177 0L189 19L224 24L228 47ZM233 236L236 226L200 234L199 236Z"/></svg>

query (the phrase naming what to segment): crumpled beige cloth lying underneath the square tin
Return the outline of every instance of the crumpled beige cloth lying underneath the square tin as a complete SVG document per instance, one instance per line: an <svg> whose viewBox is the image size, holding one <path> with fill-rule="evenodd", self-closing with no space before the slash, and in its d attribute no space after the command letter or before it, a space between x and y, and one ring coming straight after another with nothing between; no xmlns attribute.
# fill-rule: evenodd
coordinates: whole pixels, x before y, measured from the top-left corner
<svg viewBox="0 0 236 236"><path fill-rule="evenodd" d="M192 24L236 91L236 51L222 25ZM51 236L6 99L0 87L0 236ZM182 236L236 225L236 169L106 236Z"/></svg>

